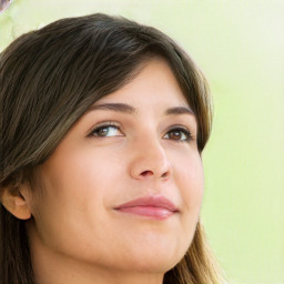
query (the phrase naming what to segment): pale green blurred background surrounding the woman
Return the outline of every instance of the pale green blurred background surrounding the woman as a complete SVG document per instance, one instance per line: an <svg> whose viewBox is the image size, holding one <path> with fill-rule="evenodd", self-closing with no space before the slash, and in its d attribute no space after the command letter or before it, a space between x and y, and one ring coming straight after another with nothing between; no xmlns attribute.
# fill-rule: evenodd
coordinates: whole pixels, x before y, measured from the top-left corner
<svg viewBox="0 0 284 284"><path fill-rule="evenodd" d="M284 1L14 0L0 14L0 50L92 12L161 29L203 69L214 100L203 153L209 240L230 283L284 283Z"/></svg>

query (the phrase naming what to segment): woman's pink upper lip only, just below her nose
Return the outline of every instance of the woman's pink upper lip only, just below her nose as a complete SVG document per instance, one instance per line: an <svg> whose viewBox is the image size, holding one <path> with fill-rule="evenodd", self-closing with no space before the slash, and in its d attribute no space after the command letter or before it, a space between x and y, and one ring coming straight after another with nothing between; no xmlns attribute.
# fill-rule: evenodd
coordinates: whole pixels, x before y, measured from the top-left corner
<svg viewBox="0 0 284 284"><path fill-rule="evenodd" d="M126 203L123 203L115 207L115 210L126 209L126 207L135 207L135 206L153 206L153 207L162 207L172 212L178 212L179 209L171 202L169 199L164 196L150 195L144 197L139 197Z"/></svg>

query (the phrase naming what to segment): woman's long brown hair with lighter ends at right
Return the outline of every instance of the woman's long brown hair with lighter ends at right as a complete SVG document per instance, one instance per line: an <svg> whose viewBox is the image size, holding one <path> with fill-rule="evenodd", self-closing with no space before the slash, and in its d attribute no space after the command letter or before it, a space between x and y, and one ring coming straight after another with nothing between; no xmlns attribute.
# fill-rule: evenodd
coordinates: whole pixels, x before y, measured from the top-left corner
<svg viewBox="0 0 284 284"><path fill-rule="evenodd" d="M73 123L120 89L151 57L163 57L197 119L202 152L211 132L206 81L192 59L161 31L106 14L55 21L14 40L0 54L0 189L32 181ZM0 283L34 283L24 221L0 210ZM168 284L222 283L197 223Z"/></svg>

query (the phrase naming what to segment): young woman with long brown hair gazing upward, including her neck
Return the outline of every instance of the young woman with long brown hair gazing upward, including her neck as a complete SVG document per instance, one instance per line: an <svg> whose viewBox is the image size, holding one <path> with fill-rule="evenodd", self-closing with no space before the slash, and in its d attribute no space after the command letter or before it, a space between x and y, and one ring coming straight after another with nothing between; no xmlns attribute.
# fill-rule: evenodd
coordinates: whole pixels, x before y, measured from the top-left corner
<svg viewBox="0 0 284 284"><path fill-rule="evenodd" d="M62 19L0 58L0 282L223 283L200 224L211 100L169 37Z"/></svg>

